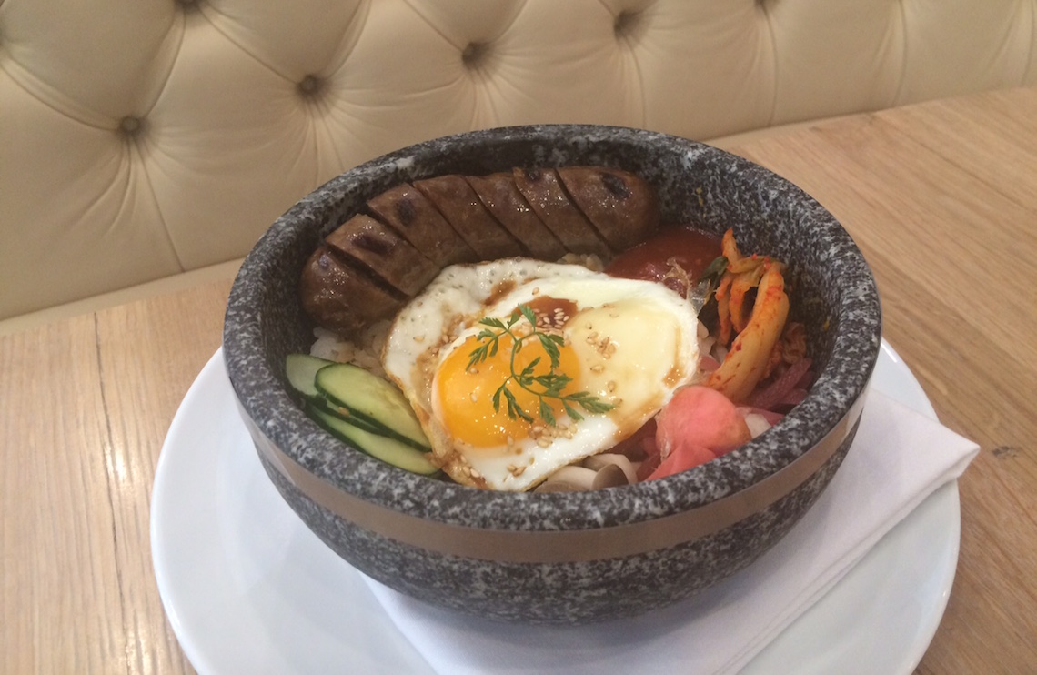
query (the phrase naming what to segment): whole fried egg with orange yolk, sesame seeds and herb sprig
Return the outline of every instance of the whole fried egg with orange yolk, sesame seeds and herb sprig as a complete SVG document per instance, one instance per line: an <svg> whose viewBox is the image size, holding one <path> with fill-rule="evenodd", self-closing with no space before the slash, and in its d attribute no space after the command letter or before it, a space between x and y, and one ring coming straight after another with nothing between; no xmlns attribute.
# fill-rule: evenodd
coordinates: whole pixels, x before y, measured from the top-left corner
<svg viewBox="0 0 1037 675"><path fill-rule="evenodd" d="M445 269L397 314L383 363L451 478L526 490L690 384L697 329L661 284L507 258Z"/></svg>

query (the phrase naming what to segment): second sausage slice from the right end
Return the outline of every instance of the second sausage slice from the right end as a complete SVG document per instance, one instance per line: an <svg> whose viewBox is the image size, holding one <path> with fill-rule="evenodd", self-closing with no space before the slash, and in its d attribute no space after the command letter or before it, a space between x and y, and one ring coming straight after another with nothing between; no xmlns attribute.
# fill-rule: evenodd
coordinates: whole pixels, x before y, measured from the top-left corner
<svg viewBox="0 0 1037 675"><path fill-rule="evenodd" d="M512 175L523 197L566 249L611 256L605 240L565 194L554 169L514 169Z"/></svg>

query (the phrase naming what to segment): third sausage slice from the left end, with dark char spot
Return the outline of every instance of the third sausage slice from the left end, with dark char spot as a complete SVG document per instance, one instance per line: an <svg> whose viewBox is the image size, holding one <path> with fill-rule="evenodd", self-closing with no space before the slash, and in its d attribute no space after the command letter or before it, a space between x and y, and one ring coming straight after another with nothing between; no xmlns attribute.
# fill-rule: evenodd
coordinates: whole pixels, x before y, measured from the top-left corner
<svg viewBox="0 0 1037 675"><path fill-rule="evenodd" d="M414 186L404 182L383 192L367 202L367 209L440 268L478 260L472 248Z"/></svg>

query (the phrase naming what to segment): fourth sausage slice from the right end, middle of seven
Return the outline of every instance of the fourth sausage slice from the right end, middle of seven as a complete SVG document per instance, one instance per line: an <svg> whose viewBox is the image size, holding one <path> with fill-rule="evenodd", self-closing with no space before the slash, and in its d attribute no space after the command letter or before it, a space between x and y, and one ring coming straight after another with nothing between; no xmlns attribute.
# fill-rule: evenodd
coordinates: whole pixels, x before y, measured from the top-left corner
<svg viewBox="0 0 1037 675"><path fill-rule="evenodd" d="M496 260L526 252L486 210L465 176L437 176L417 180L414 187L428 197L480 259Z"/></svg>

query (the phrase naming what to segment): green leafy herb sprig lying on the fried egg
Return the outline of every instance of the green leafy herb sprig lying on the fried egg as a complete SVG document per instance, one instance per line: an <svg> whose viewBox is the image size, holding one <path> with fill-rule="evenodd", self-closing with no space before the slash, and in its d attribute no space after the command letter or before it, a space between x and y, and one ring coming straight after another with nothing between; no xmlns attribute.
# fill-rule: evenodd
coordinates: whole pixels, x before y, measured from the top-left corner
<svg viewBox="0 0 1037 675"><path fill-rule="evenodd" d="M527 333L526 335L518 335L513 329L515 324L524 317L527 321L529 321L533 330L531 333ZM494 317L483 318L479 321L479 324L487 328L485 328L477 336L477 339L481 342L481 344L472 351L472 358L469 360L468 366L465 368L466 370L485 361L487 357L496 356L501 337L509 335L512 340L510 358L511 374L508 375L504 379L504 383L501 384L496 392L494 392L495 412L501 412L501 397L503 397L507 402L509 418L521 418L530 424L534 422L533 417L524 411L521 405L518 405L514 394L508 388L508 384L512 381L522 389L525 389L529 393L536 396L538 407L537 413L540 416L540 419L542 419L549 426L557 426L558 424L557 420L555 420L554 412L548 403L549 399L561 401L566 415L577 422L583 419L583 416L576 410L577 405L582 407L585 412L591 414L607 413L614 407L612 403L602 401L597 396L594 396L589 392L581 391L571 394L562 393L562 390L564 390L565 387L572 382L572 378L565 373L556 372L559 364L558 347L559 345L565 343L565 338L561 335L540 331L536 327L536 315L528 305L518 305L517 310L511 314L507 324ZM493 329L497 330L495 331ZM523 343L531 339L535 339L540 343L551 361L550 371L542 375L533 374L533 369L540 363L540 357L533 359L529 365L523 368L522 372L515 372L515 355L517 355L522 349Z"/></svg>

